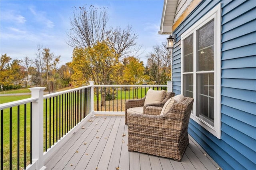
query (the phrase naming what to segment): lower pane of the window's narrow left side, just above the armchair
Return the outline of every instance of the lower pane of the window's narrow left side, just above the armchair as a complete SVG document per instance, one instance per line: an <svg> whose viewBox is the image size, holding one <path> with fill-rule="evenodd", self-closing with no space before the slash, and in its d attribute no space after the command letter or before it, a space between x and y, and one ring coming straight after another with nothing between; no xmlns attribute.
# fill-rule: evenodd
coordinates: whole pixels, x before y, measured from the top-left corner
<svg viewBox="0 0 256 170"><path fill-rule="evenodd" d="M193 74L184 74L183 75L183 95L185 97L193 98Z"/></svg>

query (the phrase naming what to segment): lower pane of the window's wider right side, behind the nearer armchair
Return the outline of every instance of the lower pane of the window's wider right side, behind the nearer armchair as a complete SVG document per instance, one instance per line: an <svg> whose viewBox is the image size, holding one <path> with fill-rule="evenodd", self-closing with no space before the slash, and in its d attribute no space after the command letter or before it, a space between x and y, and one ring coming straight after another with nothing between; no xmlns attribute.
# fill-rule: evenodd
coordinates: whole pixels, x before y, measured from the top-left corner
<svg viewBox="0 0 256 170"><path fill-rule="evenodd" d="M197 74L197 92L196 116L214 126L214 73Z"/></svg>

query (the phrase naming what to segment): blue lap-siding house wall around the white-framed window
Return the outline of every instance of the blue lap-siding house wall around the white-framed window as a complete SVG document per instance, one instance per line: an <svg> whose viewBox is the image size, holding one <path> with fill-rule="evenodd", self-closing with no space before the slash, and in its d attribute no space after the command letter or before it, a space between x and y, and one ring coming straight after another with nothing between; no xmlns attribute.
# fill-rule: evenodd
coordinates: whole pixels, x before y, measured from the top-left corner
<svg viewBox="0 0 256 170"><path fill-rule="evenodd" d="M223 169L256 169L256 1L202 1L173 30L173 92L181 93L181 35L221 3L221 139L190 119L189 134Z"/></svg>

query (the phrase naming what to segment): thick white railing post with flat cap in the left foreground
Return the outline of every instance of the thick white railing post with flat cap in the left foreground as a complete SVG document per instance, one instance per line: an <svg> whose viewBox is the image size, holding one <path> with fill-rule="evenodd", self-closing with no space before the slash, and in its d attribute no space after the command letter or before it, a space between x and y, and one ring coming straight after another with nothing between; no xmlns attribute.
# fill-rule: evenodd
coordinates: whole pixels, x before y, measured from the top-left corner
<svg viewBox="0 0 256 170"><path fill-rule="evenodd" d="M29 88L31 97L38 98L32 103L32 163L36 169L43 170L44 166L44 89L45 87Z"/></svg>

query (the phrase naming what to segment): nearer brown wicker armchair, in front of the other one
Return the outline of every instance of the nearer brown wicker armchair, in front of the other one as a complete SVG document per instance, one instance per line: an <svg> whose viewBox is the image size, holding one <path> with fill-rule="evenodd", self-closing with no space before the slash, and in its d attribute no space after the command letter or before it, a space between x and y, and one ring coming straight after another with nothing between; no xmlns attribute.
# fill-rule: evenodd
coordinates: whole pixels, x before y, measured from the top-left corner
<svg viewBox="0 0 256 170"><path fill-rule="evenodd" d="M188 122L194 99L185 97L164 115L131 114L128 150L181 161L188 146Z"/></svg>

